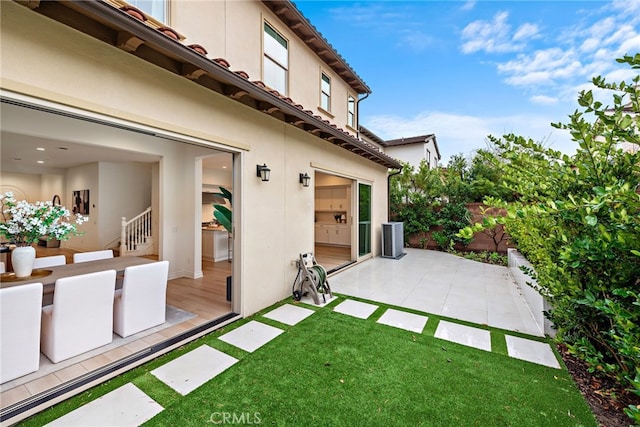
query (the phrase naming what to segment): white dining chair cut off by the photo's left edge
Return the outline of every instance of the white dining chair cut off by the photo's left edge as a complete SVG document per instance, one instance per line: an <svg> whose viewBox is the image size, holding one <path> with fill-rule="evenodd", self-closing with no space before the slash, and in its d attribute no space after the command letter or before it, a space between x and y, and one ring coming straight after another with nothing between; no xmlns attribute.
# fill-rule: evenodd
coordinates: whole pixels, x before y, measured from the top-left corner
<svg viewBox="0 0 640 427"><path fill-rule="evenodd" d="M0 383L40 367L42 283L0 289Z"/></svg>

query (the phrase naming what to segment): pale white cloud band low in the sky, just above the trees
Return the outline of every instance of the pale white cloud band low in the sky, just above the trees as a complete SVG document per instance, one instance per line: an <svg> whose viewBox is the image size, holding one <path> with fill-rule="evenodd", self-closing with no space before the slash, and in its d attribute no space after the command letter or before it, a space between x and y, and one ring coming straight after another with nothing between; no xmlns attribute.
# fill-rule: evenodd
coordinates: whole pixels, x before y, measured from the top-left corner
<svg viewBox="0 0 640 427"><path fill-rule="evenodd" d="M557 118L536 115L483 117L427 111L411 118L372 116L365 126L383 139L433 133L438 141L442 163L446 164L454 154L468 155L477 149L486 148L488 135L500 137L508 133L543 142L565 153L574 152L575 144L568 133L551 127L550 123L557 121Z"/></svg>

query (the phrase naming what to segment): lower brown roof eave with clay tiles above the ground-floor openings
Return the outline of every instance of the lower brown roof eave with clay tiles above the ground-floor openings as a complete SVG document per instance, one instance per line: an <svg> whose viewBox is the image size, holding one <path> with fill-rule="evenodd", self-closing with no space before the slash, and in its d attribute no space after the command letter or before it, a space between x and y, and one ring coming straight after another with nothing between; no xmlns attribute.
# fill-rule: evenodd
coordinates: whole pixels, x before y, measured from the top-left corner
<svg viewBox="0 0 640 427"><path fill-rule="evenodd" d="M291 5L290 2L282 3ZM249 80L246 72L232 71L224 58L209 59L202 53L206 52L201 50L202 46L184 45L179 36L171 35L176 33L171 28L157 28L103 1L21 4L372 162L391 169L402 167L400 162L374 145L356 139L278 91L268 90L261 81ZM141 45L145 49L138 50Z"/></svg>

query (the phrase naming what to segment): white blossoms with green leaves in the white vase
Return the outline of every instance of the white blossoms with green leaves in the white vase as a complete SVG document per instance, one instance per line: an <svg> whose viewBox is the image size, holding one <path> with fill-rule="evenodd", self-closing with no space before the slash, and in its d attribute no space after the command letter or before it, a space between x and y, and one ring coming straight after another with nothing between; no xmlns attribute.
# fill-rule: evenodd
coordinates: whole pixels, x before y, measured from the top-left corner
<svg viewBox="0 0 640 427"><path fill-rule="evenodd" d="M11 192L0 194L0 206L0 234L16 246L29 246L45 235L58 240L66 240L70 235L77 236L80 233L76 224L88 219L76 214L75 221L69 222L71 212L64 206L52 202L17 202Z"/></svg>

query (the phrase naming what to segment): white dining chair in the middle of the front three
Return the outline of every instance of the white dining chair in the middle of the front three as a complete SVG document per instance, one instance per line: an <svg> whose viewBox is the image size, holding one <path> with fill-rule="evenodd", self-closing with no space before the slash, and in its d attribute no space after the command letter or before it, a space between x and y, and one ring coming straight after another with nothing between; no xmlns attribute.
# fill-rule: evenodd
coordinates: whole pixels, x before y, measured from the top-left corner
<svg viewBox="0 0 640 427"><path fill-rule="evenodd" d="M109 344L113 339L116 271L56 280L53 304L42 308L42 352L54 363Z"/></svg>

